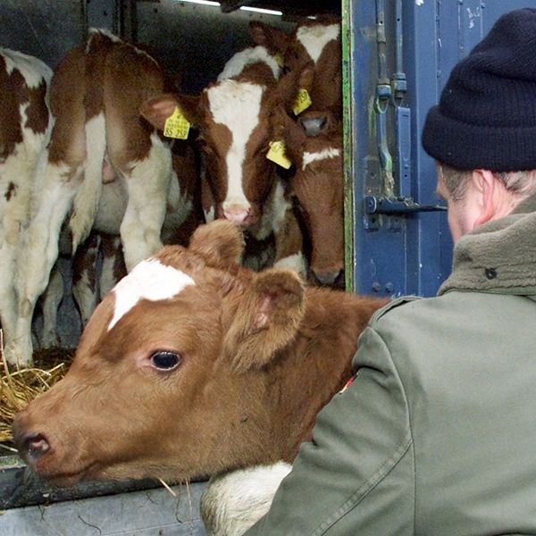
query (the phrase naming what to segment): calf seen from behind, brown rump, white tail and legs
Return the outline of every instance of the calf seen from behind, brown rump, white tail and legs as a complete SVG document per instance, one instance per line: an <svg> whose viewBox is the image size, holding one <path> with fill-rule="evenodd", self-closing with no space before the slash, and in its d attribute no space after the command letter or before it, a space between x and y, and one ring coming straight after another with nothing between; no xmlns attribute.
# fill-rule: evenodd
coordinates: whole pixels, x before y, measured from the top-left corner
<svg viewBox="0 0 536 536"><path fill-rule="evenodd" d="M9 362L31 363L32 314L58 255L63 221L70 214L74 252L93 228L98 206L105 205L107 182L120 180L121 186L109 189L123 188L128 199L120 229L127 268L162 246L160 233L174 185L172 155L139 117L138 107L164 89L163 72L151 56L101 30L91 30L54 71L54 129L36 185L35 214L20 248L17 329L6 347ZM105 211L103 226L115 217Z"/></svg>

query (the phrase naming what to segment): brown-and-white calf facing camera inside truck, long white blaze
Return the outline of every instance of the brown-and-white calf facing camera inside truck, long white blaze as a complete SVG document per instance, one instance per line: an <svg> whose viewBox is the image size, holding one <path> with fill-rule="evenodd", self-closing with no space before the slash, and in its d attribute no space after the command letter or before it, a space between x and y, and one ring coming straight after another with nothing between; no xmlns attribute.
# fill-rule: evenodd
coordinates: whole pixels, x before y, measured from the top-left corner
<svg viewBox="0 0 536 536"><path fill-rule="evenodd" d="M264 46L250 47L235 54L200 96L164 95L145 103L141 113L163 130L179 107L200 130L209 184L204 191L207 221L235 222L246 230L248 242L274 237L276 264L304 272L288 184L266 158L272 141L270 113L297 95L299 72L281 80L280 74L274 55Z"/></svg>

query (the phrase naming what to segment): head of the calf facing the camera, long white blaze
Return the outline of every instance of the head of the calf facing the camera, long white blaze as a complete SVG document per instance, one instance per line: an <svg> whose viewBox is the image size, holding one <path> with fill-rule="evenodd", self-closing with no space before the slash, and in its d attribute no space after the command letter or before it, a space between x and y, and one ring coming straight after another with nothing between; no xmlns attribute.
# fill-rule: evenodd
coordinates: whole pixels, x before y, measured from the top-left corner
<svg viewBox="0 0 536 536"><path fill-rule="evenodd" d="M266 158L269 116L276 104L295 98L300 73L278 80L279 67L263 46L247 51L200 96L164 95L147 101L140 112L162 130L180 108L200 133L215 217L252 228L275 184L275 165Z"/></svg>

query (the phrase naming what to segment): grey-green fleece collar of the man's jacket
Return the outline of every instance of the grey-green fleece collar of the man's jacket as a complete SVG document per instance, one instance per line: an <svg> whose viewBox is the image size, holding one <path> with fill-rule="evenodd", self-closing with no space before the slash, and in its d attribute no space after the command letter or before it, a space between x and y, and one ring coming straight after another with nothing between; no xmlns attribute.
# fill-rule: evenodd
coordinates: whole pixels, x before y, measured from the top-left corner
<svg viewBox="0 0 536 536"><path fill-rule="evenodd" d="M456 242L448 290L536 295L536 194Z"/></svg>

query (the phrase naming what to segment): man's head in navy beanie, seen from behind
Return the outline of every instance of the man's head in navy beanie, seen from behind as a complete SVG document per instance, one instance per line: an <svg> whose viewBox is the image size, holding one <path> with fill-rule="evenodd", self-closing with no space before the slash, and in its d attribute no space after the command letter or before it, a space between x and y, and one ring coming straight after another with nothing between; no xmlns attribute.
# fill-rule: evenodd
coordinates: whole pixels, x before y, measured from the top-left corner
<svg viewBox="0 0 536 536"><path fill-rule="evenodd" d="M423 147L455 242L536 192L536 9L503 15L457 63Z"/></svg>

